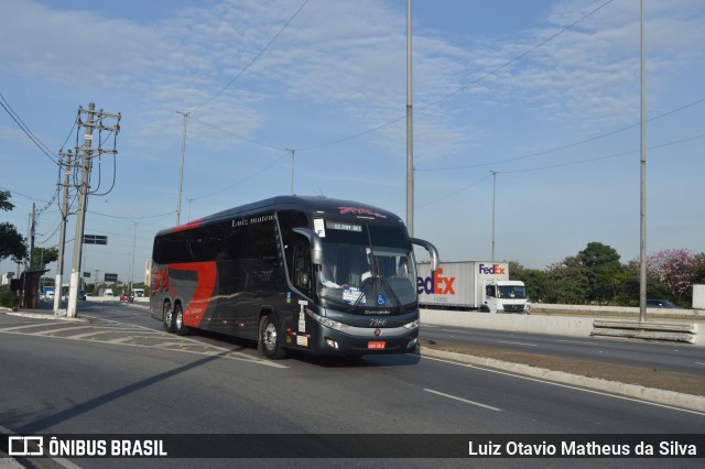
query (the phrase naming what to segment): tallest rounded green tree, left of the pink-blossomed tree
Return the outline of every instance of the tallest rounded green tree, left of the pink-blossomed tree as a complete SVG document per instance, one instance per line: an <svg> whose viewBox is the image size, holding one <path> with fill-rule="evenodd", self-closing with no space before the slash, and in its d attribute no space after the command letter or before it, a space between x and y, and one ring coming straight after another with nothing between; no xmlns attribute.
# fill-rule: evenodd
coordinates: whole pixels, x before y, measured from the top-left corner
<svg viewBox="0 0 705 469"><path fill-rule="evenodd" d="M586 268L588 280L587 299L590 302L614 301L621 273L619 254L601 242L588 242L578 252L578 261Z"/></svg>

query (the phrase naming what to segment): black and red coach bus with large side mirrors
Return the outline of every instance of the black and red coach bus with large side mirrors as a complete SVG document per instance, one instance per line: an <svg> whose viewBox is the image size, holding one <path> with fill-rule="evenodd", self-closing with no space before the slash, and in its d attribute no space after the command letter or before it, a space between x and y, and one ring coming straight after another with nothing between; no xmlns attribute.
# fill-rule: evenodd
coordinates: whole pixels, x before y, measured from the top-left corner
<svg viewBox="0 0 705 469"><path fill-rule="evenodd" d="M288 350L362 356L414 351L413 244L394 214L348 200L281 196L154 238L151 315L170 332L205 329Z"/></svg>

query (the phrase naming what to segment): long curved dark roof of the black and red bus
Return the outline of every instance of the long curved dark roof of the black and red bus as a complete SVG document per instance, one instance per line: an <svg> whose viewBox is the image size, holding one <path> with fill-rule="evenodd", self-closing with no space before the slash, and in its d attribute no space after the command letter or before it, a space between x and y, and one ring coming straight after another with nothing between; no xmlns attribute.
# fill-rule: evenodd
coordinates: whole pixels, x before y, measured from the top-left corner
<svg viewBox="0 0 705 469"><path fill-rule="evenodd" d="M352 219L372 219L386 221L403 222L399 216L389 210L375 207L359 201L341 200L325 197L313 196L276 196L268 199L254 201L239 207L229 208L217 214L208 215L197 220L189 221L185 225L169 228L158 232L159 234L188 230L214 221L226 220L229 218L245 217L269 210L301 210L310 216L335 215L336 217Z"/></svg>

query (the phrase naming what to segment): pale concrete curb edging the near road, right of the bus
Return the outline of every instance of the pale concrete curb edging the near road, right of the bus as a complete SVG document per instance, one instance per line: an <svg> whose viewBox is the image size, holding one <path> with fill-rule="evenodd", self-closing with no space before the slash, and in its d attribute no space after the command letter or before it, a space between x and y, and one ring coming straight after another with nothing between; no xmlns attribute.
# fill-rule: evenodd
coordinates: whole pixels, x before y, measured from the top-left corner
<svg viewBox="0 0 705 469"><path fill-rule="evenodd" d="M531 367L529 364L512 363L494 358L474 357L464 353L421 348L421 356L443 358L465 364L474 364L494 370L502 370L523 377L536 378L561 384L568 384L577 388L585 388L593 391L600 391L623 397L648 401L654 404L670 405L688 411L703 412L705 410L705 396L683 394L674 391L664 391L652 388L644 388L637 384L625 384L617 381L600 380L598 378L582 377L579 374L566 373L564 371L547 370L544 368Z"/></svg>

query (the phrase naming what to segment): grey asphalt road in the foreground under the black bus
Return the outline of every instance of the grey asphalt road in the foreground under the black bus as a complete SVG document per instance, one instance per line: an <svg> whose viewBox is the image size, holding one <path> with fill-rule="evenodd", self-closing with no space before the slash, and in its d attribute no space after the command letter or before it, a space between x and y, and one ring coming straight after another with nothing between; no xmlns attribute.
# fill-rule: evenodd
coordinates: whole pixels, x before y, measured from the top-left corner
<svg viewBox="0 0 705 469"><path fill-rule="evenodd" d="M257 355L253 343L213 336L167 335L145 308L137 305L96 304L85 307L80 316L95 319L57 321L0 315L3 362L0 425L4 432L314 436L663 434L664 438L705 434L705 413L445 360L403 355L355 361L306 356L269 361ZM679 459L677 465L702 466L702 457ZM127 463L124 459L67 459L80 467ZM381 466L378 459L346 461L334 461L333 466ZM517 467L604 467L606 462L604 459L476 462L506 467L508 461ZM208 460L208 466L232 467L246 461L226 462L214 459ZM269 461L272 467L281 467L283 462L295 467L305 461ZM433 466L467 463L466 459L443 459ZM663 459L620 459L618 466L663 463ZM194 462L140 459L132 466L178 465L186 467ZM386 459L383 466L397 465L430 466L423 459Z"/></svg>

